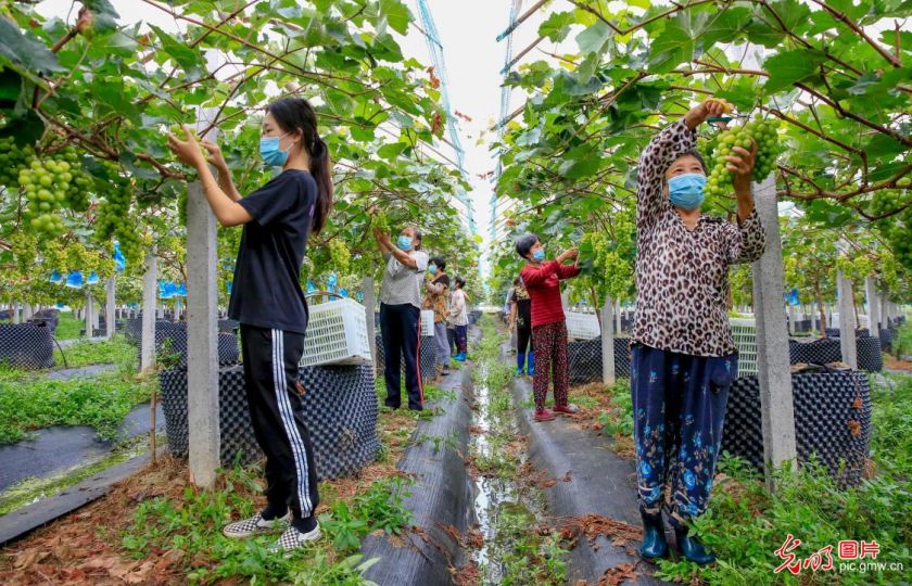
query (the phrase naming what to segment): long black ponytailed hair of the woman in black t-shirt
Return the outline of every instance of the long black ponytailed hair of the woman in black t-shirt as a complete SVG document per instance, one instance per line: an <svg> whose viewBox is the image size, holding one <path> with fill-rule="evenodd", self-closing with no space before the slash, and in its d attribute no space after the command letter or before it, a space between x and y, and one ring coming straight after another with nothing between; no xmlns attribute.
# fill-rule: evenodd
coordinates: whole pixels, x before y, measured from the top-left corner
<svg viewBox="0 0 912 586"><path fill-rule="evenodd" d="M317 114L303 98L282 98L267 109L286 131L301 129L302 144L311 158L311 175L317 182L317 205L314 209L315 234L318 234L332 209L332 160L326 141L317 132Z"/></svg>

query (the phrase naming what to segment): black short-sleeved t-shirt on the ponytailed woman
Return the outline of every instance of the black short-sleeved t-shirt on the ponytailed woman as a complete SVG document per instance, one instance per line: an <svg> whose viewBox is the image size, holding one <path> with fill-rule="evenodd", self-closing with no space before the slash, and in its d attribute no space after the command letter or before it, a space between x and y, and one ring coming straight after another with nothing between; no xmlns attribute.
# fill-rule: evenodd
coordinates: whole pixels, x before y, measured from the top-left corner
<svg viewBox="0 0 912 586"><path fill-rule="evenodd" d="M244 225L235 265L228 316L259 328L305 333L307 302L301 264L314 222L317 183L289 169L239 203L253 220Z"/></svg>

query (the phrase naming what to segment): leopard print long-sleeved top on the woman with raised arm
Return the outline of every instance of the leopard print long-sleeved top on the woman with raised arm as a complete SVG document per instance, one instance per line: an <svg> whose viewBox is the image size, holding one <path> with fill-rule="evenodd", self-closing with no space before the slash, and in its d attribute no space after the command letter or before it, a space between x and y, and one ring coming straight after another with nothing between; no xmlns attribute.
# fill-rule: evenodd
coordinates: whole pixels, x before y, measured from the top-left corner
<svg viewBox="0 0 912 586"><path fill-rule="evenodd" d="M664 173L692 150L683 120L659 132L639 157L636 205L636 319L632 343L692 356L735 352L729 326L729 266L765 247L757 211L740 227L700 215L691 231L662 193Z"/></svg>

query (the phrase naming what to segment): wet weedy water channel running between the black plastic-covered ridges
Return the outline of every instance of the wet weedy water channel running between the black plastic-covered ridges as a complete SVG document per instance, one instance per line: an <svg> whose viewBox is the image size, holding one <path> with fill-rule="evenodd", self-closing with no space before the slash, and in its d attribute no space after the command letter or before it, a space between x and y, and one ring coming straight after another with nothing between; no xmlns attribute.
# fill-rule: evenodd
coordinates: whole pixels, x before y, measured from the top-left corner
<svg viewBox="0 0 912 586"><path fill-rule="evenodd" d="M472 551L481 583L511 583L530 571L536 556L536 528L545 517L544 494L529 477L525 438L520 435L511 393L511 369L505 364L503 336L484 328L473 371L474 408L469 454L478 470L474 512L483 545ZM486 351L486 352L485 352ZM531 546L531 547L530 547ZM549 556L546 553L545 558ZM534 572L534 571L533 571Z"/></svg>

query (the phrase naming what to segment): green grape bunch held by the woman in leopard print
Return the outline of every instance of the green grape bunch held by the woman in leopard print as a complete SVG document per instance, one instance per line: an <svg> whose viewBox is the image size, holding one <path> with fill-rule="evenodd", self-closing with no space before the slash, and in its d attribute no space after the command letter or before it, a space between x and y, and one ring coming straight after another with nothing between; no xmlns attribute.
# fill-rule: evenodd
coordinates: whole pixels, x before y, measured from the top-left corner
<svg viewBox="0 0 912 586"><path fill-rule="evenodd" d="M777 123L757 116L740 128L730 128L720 132L714 141L713 164L707 179L707 195L723 196L732 192L733 174L726 167L725 156L736 155L735 146L750 151L753 141L757 142L757 157L751 179L757 182L765 179L775 168L776 157L781 152L776 137L777 128Z"/></svg>

